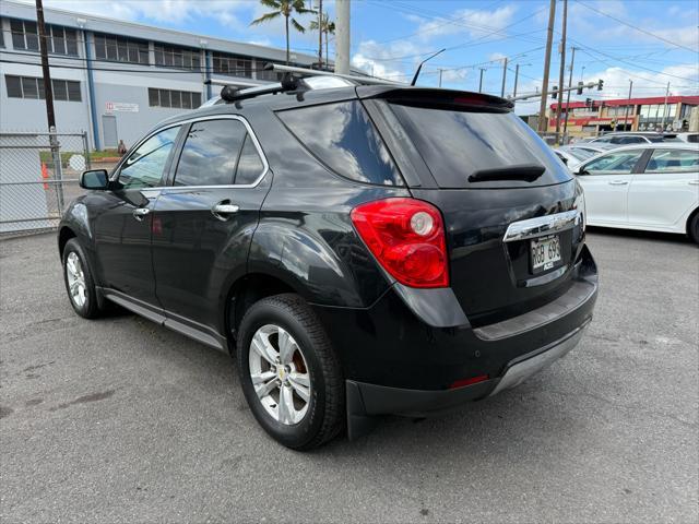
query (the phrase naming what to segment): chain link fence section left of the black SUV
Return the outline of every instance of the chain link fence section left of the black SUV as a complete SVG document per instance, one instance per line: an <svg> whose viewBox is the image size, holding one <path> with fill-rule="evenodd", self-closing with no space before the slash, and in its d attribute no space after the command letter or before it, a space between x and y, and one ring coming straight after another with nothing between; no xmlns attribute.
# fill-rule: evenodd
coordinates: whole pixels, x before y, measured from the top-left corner
<svg viewBox="0 0 699 524"><path fill-rule="evenodd" d="M1 132L0 236L56 228L91 168L85 132Z"/></svg>

